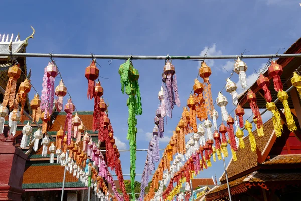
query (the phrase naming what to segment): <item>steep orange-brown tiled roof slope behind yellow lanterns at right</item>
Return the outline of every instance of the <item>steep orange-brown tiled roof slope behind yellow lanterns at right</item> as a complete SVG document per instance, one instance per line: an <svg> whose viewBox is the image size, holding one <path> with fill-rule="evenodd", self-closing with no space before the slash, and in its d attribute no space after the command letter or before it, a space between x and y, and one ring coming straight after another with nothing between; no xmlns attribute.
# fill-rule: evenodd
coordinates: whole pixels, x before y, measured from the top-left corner
<svg viewBox="0 0 301 201"><path fill-rule="evenodd" d="M271 134L273 133L274 126L273 126L272 119L269 119L267 122L263 124L263 130L264 130L264 136L262 137L259 137L257 135L256 130L252 132L256 140L256 145L261 152L263 152L268 140L271 137ZM254 152L251 151L249 136L246 136L243 139L243 141L245 143L245 148L244 149L239 148L236 151L237 161L231 160L227 167L227 174L230 181L235 179L232 177L237 176L238 174L243 173L257 166L257 154L256 151ZM223 183L225 182L225 180L226 177L225 174L223 174L222 177L220 178L220 181Z"/></svg>

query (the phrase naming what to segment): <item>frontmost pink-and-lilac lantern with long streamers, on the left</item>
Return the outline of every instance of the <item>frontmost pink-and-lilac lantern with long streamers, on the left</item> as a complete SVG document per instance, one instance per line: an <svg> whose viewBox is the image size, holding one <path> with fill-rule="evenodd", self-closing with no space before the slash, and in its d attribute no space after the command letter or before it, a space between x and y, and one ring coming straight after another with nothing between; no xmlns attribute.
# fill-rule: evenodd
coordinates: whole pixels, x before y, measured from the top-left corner
<svg viewBox="0 0 301 201"><path fill-rule="evenodd" d="M47 114L52 115L54 102L54 81L58 75L58 68L54 62L48 62L48 66L44 69L43 90L41 95L41 110L46 118Z"/></svg>

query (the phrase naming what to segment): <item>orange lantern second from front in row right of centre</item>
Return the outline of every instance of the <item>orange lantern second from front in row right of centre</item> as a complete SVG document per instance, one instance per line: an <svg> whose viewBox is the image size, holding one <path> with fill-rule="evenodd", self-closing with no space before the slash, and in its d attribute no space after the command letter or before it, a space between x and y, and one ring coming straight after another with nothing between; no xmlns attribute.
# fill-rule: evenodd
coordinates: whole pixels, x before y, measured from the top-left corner
<svg viewBox="0 0 301 201"><path fill-rule="evenodd" d="M197 79L195 79L193 91L195 93L193 96L196 104L197 117L200 121L203 121L204 119L207 119L207 108L205 107L203 96L204 86Z"/></svg>

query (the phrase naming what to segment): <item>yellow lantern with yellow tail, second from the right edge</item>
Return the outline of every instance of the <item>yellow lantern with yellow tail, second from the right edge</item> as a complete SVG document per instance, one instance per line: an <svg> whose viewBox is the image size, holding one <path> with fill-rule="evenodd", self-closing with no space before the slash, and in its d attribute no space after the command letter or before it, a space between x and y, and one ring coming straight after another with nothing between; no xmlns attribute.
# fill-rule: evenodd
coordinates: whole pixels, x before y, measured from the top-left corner
<svg viewBox="0 0 301 201"><path fill-rule="evenodd" d="M287 101L288 94L285 91L280 90L277 94L277 97L283 104L288 130L291 132L296 131L297 127L296 127L295 121L293 119L293 116L291 114L291 111L290 111L290 108L288 105L288 101Z"/></svg>

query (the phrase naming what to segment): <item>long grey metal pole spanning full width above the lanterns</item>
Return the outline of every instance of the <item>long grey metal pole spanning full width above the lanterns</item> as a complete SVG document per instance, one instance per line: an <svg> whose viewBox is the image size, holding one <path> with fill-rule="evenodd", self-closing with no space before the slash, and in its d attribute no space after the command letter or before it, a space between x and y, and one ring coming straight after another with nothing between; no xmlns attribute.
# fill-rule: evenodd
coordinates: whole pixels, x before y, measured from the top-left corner
<svg viewBox="0 0 301 201"><path fill-rule="evenodd" d="M0 56L13 57L50 57L50 53L0 53ZM51 54L53 58L76 58L76 59L91 59L91 54ZM208 55L208 56L142 56L142 55L93 55L96 59L150 59L150 60L165 60L165 59L179 59L179 60L193 60L193 59L236 59L237 57L244 59L258 59L258 58L280 58L280 57L301 57L301 54L255 54L255 55Z"/></svg>

